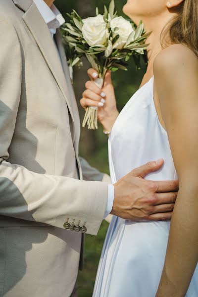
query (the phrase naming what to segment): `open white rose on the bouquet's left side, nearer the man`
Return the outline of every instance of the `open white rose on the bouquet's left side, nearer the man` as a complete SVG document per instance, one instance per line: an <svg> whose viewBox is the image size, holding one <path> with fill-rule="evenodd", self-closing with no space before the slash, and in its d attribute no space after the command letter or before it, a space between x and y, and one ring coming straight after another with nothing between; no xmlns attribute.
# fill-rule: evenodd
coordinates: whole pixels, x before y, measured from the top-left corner
<svg viewBox="0 0 198 297"><path fill-rule="evenodd" d="M83 20L82 33L90 47L103 46L108 39L107 25L101 14Z"/></svg>

